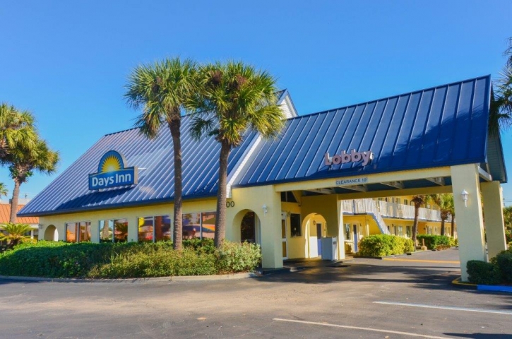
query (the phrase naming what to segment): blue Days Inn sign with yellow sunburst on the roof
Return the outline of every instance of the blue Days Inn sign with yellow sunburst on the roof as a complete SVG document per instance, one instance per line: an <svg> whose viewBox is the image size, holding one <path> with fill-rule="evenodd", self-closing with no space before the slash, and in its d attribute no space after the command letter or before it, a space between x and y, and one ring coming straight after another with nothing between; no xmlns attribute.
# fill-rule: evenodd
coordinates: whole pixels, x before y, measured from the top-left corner
<svg viewBox="0 0 512 339"><path fill-rule="evenodd" d="M110 189L112 187L136 185L138 180L137 167L126 168L123 155L109 150L102 156L97 173L89 174L89 189Z"/></svg>

